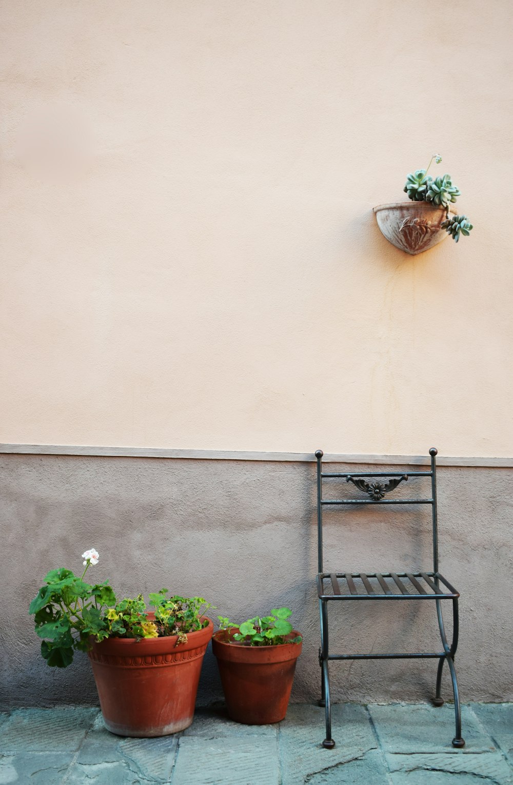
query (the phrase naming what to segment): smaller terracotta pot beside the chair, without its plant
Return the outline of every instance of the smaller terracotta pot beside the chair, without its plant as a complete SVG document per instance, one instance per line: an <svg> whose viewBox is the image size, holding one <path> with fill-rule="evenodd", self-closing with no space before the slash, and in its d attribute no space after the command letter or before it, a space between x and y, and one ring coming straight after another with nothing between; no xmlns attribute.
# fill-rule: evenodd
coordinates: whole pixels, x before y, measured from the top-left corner
<svg viewBox="0 0 513 785"><path fill-rule="evenodd" d="M303 644L246 646L233 640L238 627L218 630L212 650L232 720L245 725L267 725L285 718L296 661ZM287 638L297 637L293 630Z"/></svg>

